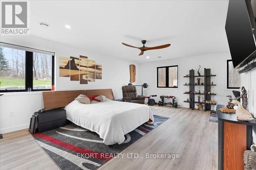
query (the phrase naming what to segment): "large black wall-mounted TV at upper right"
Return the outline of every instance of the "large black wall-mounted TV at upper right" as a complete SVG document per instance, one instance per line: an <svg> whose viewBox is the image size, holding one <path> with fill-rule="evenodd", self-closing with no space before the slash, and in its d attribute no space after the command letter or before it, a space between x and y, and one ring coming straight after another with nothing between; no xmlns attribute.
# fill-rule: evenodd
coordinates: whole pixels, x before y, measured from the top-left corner
<svg viewBox="0 0 256 170"><path fill-rule="evenodd" d="M256 57L255 25L249 0L229 1L225 30L234 68Z"/></svg>

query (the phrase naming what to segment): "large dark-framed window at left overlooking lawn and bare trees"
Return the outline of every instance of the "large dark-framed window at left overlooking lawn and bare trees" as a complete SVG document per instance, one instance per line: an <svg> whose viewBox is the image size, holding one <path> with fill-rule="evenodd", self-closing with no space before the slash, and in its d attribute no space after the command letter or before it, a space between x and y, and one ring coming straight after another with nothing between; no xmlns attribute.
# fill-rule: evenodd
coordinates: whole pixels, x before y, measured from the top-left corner
<svg viewBox="0 0 256 170"><path fill-rule="evenodd" d="M0 46L0 92L46 91L54 85L54 56Z"/></svg>

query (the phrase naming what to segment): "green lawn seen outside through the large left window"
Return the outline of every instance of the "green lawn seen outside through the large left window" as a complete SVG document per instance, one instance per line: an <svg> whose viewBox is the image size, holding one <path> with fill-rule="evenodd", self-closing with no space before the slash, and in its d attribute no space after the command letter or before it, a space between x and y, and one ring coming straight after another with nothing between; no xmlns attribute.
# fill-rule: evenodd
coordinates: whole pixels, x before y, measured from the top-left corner
<svg viewBox="0 0 256 170"><path fill-rule="evenodd" d="M1 87L25 87L25 79L0 78ZM51 86L51 80L33 80L33 86Z"/></svg>

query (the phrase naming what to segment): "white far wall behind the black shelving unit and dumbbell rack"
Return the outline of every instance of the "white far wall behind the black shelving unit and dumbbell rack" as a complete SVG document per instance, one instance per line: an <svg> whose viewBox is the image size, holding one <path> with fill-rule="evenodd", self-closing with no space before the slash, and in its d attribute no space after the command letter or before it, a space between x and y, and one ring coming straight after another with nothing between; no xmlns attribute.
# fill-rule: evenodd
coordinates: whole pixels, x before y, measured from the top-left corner
<svg viewBox="0 0 256 170"><path fill-rule="evenodd" d="M144 89L144 94L157 94L158 96L155 98L157 102L160 100L160 95L174 95L176 96L177 102L181 107L189 108L189 104L183 102L189 98L189 94L183 94L183 92L189 91L189 86L183 86L183 84L189 82L189 78L184 78L183 76L189 74L190 69L194 69L195 75L197 75L198 66L201 65L201 75L204 75L204 68L211 68L211 74L217 75L217 77L211 77L211 80L214 82L214 84L217 84L217 86L211 86L211 91L217 93L216 96L212 95L212 100L217 101L218 104L226 105L228 102L226 95L232 95L232 89L226 88L226 60L228 59L231 59L230 53L220 53L140 64L140 82L150 85L147 89ZM178 89L157 88L157 67L169 65L179 66ZM203 82L203 79L204 78L201 78L201 82ZM195 79L195 82L196 81L197 80ZM195 86L195 90L201 90L201 92L203 92L204 86ZM197 100L197 95L195 96L195 99ZM215 109L215 107L212 109Z"/></svg>

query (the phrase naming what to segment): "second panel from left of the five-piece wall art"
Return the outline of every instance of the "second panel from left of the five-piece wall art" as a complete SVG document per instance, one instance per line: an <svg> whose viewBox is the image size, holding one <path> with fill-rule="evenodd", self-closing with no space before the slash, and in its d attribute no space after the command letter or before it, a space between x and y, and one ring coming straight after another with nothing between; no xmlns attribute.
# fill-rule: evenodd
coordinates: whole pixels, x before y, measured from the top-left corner
<svg viewBox="0 0 256 170"><path fill-rule="evenodd" d="M79 81L79 58L70 57L70 80Z"/></svg>

